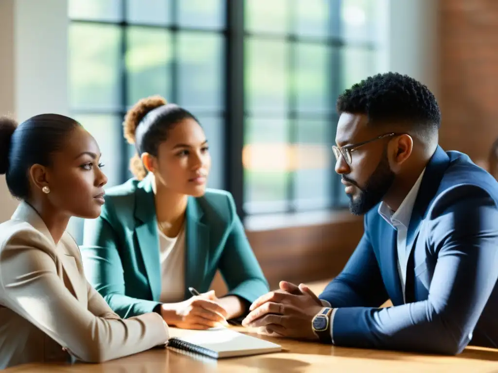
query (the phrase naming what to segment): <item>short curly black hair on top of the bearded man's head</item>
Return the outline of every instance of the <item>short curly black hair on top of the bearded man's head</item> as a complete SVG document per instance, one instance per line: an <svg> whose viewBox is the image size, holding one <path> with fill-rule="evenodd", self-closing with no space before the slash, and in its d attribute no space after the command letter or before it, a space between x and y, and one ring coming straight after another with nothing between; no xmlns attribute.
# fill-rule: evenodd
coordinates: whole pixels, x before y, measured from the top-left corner
<svg viewBox="0 0 498 373"><path fill-rule="evenodd" d="M353 85L337 99L337 110L365 114L373 124L407 124L424 135L441 125L434 94L415 79L398 73L377 74Z"/></svg>

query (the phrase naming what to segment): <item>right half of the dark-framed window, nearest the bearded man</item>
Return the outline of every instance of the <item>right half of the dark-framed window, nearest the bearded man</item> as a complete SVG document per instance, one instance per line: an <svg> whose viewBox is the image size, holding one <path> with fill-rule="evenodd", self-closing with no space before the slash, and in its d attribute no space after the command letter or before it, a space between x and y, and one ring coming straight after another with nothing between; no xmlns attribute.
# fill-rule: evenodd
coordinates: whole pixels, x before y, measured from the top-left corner
<svg viewBox="0 0 498 373"><path fill-rule="evenodd" d="M374 0L245 1L248 213L347 203L331 152L335 99L375 72L374 6Z"/></svg>

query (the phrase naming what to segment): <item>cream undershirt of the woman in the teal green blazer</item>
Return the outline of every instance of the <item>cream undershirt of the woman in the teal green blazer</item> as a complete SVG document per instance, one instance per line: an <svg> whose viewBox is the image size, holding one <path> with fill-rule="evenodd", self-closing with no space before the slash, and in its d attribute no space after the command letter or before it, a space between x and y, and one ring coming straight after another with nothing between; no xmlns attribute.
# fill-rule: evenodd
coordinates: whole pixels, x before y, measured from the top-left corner
<svg viewBox="0 0 498 373"><path fill-rule="evenodd" d="M183 300L185 294L185 229L171 238L157 229L159 235L159 261L161 263L162 303Z"/></svg>

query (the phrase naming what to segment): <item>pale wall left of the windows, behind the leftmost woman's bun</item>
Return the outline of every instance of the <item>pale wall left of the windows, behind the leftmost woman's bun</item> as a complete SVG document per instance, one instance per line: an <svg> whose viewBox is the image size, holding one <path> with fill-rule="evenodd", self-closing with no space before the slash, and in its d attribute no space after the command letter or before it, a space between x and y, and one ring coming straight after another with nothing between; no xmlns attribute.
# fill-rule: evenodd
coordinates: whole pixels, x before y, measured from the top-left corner
<svg viewBox="0 0 498 373"><path fill-rule="evenodd" d="M0 0L0 115L67 115L67 0ZM0 221L14 201L0 177Z"/></svg>

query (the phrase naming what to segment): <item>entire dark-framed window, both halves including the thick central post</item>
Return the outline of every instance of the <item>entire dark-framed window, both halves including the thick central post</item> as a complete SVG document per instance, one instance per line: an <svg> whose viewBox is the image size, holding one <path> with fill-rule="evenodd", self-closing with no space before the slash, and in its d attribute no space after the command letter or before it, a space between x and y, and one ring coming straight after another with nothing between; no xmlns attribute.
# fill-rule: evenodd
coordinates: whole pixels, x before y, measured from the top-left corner
<svg viewBox="0 0 498 373"><path fill-rule="evenodd" d="M335 100L376 72L376 2L69 0L71 110L101 146L108 186L131 177L126 109L160 94L200 119L209 186L240 213L344 206Z"/></svg>

